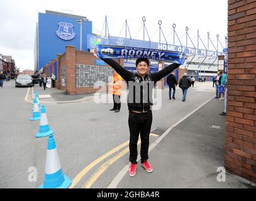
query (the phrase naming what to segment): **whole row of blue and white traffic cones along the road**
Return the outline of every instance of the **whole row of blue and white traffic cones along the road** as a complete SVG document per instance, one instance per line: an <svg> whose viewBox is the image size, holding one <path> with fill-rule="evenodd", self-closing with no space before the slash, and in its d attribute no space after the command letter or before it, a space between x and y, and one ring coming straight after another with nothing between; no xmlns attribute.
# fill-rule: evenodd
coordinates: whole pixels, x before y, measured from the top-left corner
<svg viewBox="0 0 256 201"><path fill-rule="evenodd" d="M53 138L54 131L50 129L48 124L45 106L40 106L38 94L35 91L33 100L33 117L30 121L40 119L39 132L35 134L36 138L48 136L47 158L45 166L45 180L39 188L69 188L72 181L67 175L64 175L58 158L56 143ZM40 112L41 109L41 112Z"/></svg>

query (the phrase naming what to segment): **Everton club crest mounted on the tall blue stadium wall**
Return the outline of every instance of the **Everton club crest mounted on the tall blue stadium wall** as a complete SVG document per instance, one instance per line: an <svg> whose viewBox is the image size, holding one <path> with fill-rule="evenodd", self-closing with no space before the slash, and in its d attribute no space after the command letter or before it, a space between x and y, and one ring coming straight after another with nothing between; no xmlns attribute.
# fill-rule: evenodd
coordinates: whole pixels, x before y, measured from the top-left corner
<svg viewBox="0 0 256 201"><path fill-rule="evenodd" d="M75 38L75 32L73 31L73 24L58 23L58 31L56 31L56 34L62 40L72 40L73 38Z"/></svg>

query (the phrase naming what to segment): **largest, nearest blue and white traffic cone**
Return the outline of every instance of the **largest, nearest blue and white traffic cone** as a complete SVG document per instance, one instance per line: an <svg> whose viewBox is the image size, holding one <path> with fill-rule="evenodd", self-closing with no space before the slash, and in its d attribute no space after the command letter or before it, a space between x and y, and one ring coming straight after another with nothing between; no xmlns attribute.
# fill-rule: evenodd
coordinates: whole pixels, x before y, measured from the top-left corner
<svg viewBox="0 0 256 201"><path fill-rule="evenodd" d="M49 135L45 166L45 180L39 188L69 188L72 181L62 172L53 135L54 134Z"/></svg>

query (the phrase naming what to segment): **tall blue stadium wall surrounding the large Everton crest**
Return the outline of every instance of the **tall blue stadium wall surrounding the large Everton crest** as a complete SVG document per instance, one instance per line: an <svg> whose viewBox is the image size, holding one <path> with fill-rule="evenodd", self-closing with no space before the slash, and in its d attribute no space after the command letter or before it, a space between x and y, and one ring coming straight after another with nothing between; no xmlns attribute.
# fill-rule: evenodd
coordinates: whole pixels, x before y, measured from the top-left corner
<svg viewBox="0 0 256 201"><path fill-rule="evenodd" d="M65 16L57 16L54 14L38 14L38 70L43 68L52 58L57 58L58 53L65 52L65 46L73 45L80 50L80 27L76 22L77 19ZM72 40L62 40L56 34L58 31L58 23L71 23L75 38ZM87 34L92 33L92 21L86 21L82 25L82 51L87 51Z"/></svg>

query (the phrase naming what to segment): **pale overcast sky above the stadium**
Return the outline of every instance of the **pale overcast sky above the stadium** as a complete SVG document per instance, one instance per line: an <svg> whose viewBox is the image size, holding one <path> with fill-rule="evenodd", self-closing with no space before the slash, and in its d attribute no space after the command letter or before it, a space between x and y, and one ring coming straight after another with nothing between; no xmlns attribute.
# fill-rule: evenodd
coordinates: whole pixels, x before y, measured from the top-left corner
<svg viewBox="0 0 256 201"><path fill-rule="evenodd" d="M225 46L227 35L228 0L0 0L0 53L13 56L20 70L34 69L35 27L38 12L45 13L45 9L87 16L92 21L93 32L97 34L101 33L104 17L108 16L110 35L124 37L125 29L121 30L127 19L131 37L140 39L143 33L140 31L142 16L145 16L152 41L159 38L159 19L169 43L173 41L173 23L182 39L185 38L186 26L189 27L191 38L196 38L199 30L204 42L207 42L209 31L214 44L219 34Z"/></svg>

